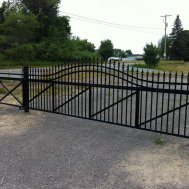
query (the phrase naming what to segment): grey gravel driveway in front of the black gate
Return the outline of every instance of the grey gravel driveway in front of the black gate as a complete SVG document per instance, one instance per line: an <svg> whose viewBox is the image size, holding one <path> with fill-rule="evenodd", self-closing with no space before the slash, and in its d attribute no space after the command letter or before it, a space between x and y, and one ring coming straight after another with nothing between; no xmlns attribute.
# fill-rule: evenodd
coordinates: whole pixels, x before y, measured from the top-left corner
<svg viewBox="0 0 189 189"><path fill-rule="evenodd" d="M189 139L0 105L1 189L188 189Z"/></svg>

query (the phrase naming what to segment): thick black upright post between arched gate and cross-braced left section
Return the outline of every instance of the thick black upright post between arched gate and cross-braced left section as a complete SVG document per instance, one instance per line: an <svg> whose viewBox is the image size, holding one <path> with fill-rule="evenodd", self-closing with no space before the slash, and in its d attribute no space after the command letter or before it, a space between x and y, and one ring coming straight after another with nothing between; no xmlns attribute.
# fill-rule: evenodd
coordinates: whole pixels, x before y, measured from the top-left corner
<svg viewBox="0 0 189 189"><path fill-rule="evenodd" d="M22 80L22 109L29 112L29 73L28 67L23 67L23 80Z"/></svg>

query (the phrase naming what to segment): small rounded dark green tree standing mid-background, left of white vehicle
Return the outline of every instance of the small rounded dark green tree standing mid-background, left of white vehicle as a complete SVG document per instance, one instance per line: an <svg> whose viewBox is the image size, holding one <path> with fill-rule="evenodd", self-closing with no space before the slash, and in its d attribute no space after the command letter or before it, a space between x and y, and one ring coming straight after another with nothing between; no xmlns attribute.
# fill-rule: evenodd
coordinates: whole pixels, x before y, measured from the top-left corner
<svg viewBox="0 0 189 189"><path fill-rule="evenodd" d="M113 56L114 50L112 41L109 39L101 41L98 52L104 60L107 60L109 57Z"/></svg>

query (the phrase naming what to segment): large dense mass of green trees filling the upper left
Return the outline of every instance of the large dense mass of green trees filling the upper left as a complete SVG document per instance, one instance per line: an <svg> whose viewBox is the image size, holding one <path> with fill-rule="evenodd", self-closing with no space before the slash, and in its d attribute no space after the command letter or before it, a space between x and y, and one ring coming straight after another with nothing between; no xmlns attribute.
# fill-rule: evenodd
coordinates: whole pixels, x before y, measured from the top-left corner
<svg viewBox="0 0 189 189"><path fill-rule="evenodd" d="M71 35L60 0L4 1L0 7L0 60L61 61L97 56L94 44Z"/></svg>

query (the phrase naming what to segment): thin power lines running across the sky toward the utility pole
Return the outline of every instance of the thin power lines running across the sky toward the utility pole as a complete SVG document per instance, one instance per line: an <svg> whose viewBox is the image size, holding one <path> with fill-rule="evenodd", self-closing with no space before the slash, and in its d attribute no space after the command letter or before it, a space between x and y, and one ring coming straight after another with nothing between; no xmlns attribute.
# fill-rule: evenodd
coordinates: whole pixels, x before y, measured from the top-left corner
<svg viewBox="0 0 189 189"><path fill-rule="evenodd" d="M96 19L92 19L92 18L88 18L88 17L83 17L83 16L79 16L76 14L72 14L72 13L68 13L68 12L62 12L67 14L68 16L71 15L71 18L73 19L78 19L78 20L82 20L82 21L86 21L86 22L91 22L91 23L95 23L95 24L101 24L101 25L106 25L106 26L110 26L110 27L114 27L114 28L120 28L120 29L125 29L125 30L131 30L131 31L136 31L136 32L142 32L142 33L150 33L153 35L162 35L159 33L153 33L153 32L149 32L149 31L143 31L143 30L136 30L138 29L162 29L162 28L149 28L149 27L137 27L137 26L127 26L127 25L123 25L123 24L116 24L116 23L112 23L112 22L106 22L106 21L101 21L101 20L96 20ZM136 29L132 29L132 28L136 28Z"/></svg>

